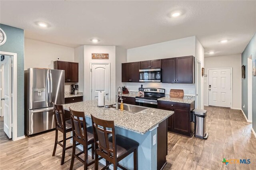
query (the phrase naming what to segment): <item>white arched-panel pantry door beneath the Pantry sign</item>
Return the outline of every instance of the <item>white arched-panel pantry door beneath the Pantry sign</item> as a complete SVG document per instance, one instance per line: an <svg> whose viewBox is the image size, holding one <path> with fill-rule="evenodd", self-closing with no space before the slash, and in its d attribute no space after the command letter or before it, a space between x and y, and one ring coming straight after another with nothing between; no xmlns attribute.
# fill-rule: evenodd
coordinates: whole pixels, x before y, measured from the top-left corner
<svg viewBox="0 0 256 170"><path fill-rule="evenodd" d="M105 101L110 100L109 86L110 86L110 67L109 64L92 64L92 100L98 99L98 93L104 92Z"/></svg>

